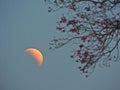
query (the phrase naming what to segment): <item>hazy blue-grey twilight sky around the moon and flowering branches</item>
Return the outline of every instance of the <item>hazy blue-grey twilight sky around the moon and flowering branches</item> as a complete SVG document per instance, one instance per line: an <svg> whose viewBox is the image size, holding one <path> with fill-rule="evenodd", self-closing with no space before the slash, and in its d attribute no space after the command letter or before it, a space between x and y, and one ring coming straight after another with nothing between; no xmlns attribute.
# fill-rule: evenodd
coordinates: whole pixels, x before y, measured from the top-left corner
<svg viewBox="0 0 120 90"><path fill-rule="evenodd" d="M69 46L48 50L59 16L44 0L0 0L0 90L119 90L119 62L85 78ZM24 52L28 47L42 51L42 66Z"/></svg>

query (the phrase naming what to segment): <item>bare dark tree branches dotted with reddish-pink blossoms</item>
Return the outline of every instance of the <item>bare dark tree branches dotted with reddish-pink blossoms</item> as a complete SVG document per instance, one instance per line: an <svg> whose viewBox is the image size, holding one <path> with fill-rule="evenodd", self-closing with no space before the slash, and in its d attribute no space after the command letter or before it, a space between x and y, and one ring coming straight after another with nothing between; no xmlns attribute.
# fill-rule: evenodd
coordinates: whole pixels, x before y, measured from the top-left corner
<svg viewBox="0 0 120 90"><path fill-rule="evenodd" d="M120 0L45 0L48 12L63 10L56 29L64 37L54 38L50 49L70 42L76 45L71 58L87 77L96 65L110 66L120 59ZM63 12L61 11L61 12Z"/></svg>

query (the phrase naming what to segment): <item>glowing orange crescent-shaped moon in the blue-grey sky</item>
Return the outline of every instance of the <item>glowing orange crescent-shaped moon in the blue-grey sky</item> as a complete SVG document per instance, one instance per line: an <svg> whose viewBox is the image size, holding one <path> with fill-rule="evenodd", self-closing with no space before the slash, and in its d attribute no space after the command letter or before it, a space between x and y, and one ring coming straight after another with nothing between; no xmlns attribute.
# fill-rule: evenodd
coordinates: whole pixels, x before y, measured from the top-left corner
<svg viewBox="0 0 120 90"><path fill-rule="evenodd" d="M41 51L39 51L36 48L27 48L27 49L25 49L25 52L27 52L35 60L37 60L37 62L38 62L39 65L42 65L42 63L43 63L43 55L42 55Z"/></svg>

